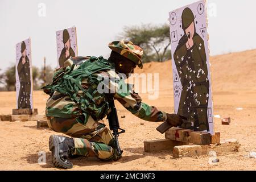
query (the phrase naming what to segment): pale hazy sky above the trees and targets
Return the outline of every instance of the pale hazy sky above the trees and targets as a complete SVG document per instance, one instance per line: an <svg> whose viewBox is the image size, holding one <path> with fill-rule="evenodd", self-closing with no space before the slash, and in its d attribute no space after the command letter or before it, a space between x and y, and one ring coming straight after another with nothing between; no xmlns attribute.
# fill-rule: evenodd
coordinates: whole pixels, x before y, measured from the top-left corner
<svg viewBox="0 0 256 182"><path fill-rule="evenodd" d="M108 56L108 43L122 33L123 27L142 23L168 23L168 13L195 0L94 0L44 1L1 0L1 69L15 63L15 44L31 37L32 64L57 66L57 30L77 27L81 56ZM46 5L46 16L40 3ZM210 54L256 48L256 1L208 1ZM209 12L210 11L210 12ZM43 14L40 14L43 15Z"/></svg>

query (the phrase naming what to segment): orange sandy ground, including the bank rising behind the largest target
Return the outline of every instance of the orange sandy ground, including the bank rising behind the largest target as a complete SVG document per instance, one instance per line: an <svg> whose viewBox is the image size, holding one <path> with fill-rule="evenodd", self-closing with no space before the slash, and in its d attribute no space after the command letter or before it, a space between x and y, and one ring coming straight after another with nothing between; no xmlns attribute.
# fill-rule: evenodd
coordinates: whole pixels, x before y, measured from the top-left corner
<svg viewBox="0 0 256 182"><path fill-rule="evenodd" d="M215 130L221 132L221 139L236 138L240 141L239 152L221 154L216 166L208 164L209 156L173 159L170 151L148 154L144 152L143 141L163 139L164 135L155 128L159 123L142 121L117 104L120 126L126 130L119 137L123 158L117 162L101 162L94 158L72 159L71 170L255 170L256 159L249 158L250 151L256 151L256 50L211 57L214 114L231 117L229 126L221 125L221 119L214 118ZM159 98L148 100L147 104L172 113L174 98L172 88L171 61L148 63L144 73L159 73ZM138 73L142 71L137 70ZM41 91L34 92L34 106L44 113L48 96ZM15 107L15 92L0 92L0 114L10 114ZM243 110L236 110L242 107ZM125 115L125 118L121 118ZM56 134L49 129L36 129L35 121L0 122L0 169L1 170L59 170L51 162L48 138ZM39 164L39 152L46 152L46 164Z"/></svg>

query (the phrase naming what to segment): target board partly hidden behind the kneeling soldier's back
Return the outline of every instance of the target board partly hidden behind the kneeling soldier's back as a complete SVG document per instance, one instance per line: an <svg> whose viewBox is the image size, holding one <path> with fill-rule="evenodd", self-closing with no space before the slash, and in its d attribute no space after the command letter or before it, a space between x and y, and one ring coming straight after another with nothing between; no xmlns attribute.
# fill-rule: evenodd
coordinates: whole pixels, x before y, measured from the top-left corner
<svg viewBox="0 0 256 182"><path fill-rule="evenodd" d="M67 61L69 58L78 55L76 27L56 31L56 41L58 61L57 64L60 68L64 66L65 61Z"/></svg>

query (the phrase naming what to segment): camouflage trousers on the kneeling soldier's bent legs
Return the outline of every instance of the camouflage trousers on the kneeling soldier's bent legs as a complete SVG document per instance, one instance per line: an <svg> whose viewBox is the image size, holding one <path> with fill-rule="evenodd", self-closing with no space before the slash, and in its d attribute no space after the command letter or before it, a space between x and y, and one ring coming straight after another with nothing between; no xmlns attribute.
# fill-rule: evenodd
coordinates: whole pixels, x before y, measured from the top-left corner
<svg viewBox="0 0 256 182"><path fill-rule="evenodd" d="M121 158L112 132L92 117L86 123L83 115L76 118L47 118L48 126L53 131L73 138L75 148L71 151L72 155L93 156L105 161Z"/></svg>

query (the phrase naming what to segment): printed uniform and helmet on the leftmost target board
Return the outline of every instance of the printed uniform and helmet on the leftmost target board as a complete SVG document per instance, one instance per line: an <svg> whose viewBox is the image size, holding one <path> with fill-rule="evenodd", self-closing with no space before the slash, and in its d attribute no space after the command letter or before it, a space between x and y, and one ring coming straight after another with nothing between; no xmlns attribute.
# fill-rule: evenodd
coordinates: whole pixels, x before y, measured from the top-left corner
<svg viewBox="0 0 256 182"><path fill-rule="evenodd" d="M21 52L26 49L26 44L22 42ZM18 109L28 109L30 105L31 94L31 80L30 80L30 60L27 55L25 57L26 63L22 64L22 57L19 59L17 65L17 72L19 75L20 89L18 96Z"/></svg>

